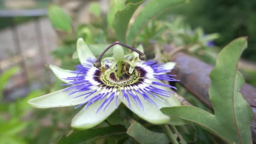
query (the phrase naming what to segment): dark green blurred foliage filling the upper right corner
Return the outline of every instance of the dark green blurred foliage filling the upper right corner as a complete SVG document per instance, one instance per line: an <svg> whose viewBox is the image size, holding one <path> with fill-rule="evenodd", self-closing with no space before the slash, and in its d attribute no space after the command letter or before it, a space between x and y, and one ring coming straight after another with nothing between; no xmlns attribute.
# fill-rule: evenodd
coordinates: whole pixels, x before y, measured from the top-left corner
<svg viewBox="0 0 256 144"><path fill-rule="evenodd" d="M171 13L183 15L192 27L199 25L205 32L218 32L221 38L217 45L224 46L230 40L248 36L248 49L243 58L256 61L256 1L252 0L193 0L173 8Z"/></svg>

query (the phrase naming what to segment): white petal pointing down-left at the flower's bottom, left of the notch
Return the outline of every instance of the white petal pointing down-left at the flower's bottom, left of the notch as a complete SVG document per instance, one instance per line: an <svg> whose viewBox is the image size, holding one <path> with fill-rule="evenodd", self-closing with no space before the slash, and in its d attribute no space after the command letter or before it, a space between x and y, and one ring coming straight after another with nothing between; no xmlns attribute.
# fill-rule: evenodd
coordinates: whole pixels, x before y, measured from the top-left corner
<svg viewBox="0 0 256 144"><path fill-rule="evenodd" d="M109 115L111 115L116 109L116 98L111 101L111 103L107 106L105 110L103 107L99 112L97 112L98 108L104 100L105 99L102 99L101 101L96 101L86 109L81 109L80 112L78 112L77 115L75 115L75 117L73 118L71 126L73 128L88 129L93 128L94 126L107 119L107 117L109 117ZM120 103L121 101L117 99L118 106Z"/></svg>

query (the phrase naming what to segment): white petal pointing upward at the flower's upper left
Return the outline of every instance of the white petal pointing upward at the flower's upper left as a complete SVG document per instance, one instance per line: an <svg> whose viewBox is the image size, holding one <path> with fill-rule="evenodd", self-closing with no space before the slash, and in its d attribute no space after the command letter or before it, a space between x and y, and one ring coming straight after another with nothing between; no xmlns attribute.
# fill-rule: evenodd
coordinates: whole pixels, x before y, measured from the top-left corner
<svg viewBox="0 0 256 144"><path fill-rule="evenodd" d="M81 64L87 63L87 59L96 59L83 38L77 40L77 54Z"/></svg>

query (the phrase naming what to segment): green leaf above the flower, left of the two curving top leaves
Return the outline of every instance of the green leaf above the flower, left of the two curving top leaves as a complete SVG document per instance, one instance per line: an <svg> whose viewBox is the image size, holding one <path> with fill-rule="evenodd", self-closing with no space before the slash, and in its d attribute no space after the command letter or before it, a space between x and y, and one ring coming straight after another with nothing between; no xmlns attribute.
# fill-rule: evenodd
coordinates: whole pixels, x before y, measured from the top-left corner
<svg viewBox="0 0 256 144"><path fill-rule="evenodd" d="M133 16L133 13L144 1L145 0L140 0L138 3L128 3L121 11L117 11L115 14L113 27L115 29L117 40L121 43L126 43L125 35L128 29L128 23Z"/></svg>

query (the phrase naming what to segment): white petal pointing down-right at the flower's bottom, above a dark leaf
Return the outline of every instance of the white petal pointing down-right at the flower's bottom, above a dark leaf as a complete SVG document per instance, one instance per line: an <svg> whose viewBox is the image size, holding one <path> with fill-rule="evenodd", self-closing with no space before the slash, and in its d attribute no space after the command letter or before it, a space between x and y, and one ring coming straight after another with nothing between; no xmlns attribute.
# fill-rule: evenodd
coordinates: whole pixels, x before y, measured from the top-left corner
<svg viewBox="0 0 256 144"><path fill-rule="evenodd" d="M140 96L139 96L140 97ZM125 105L129 108L128 101L123 97L118 97ZM134 112L136 115L141 117L142 119L148 121L152 124L163 124L167 123L170 120L170 117L164 115L160 109L155 107L155 105L149 103L149 101L144 100L140 97L141 103L143 104L144 111L141 109L136 102L129 96L130 103L131 103L131 111ZM130 109L130 108L129 108Z"/></svg>

